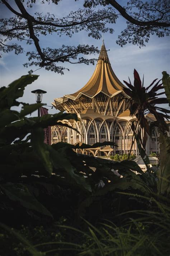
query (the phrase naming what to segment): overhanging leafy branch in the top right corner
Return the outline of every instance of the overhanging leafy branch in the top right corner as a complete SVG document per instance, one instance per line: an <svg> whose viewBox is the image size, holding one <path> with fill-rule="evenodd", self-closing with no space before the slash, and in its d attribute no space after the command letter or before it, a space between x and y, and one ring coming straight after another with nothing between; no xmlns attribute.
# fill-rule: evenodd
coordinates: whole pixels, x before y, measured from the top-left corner
<svg viewBox="0 0 170 256"><path fill-rule="evenodd" d="M127 20L127 28L118 36L117 44L123 46L127 42L145 46L151 35L164 37L169 35L168 0L130 0L126 6L121 6L115 0L85 0L84 6L111 5Z"/></svg>

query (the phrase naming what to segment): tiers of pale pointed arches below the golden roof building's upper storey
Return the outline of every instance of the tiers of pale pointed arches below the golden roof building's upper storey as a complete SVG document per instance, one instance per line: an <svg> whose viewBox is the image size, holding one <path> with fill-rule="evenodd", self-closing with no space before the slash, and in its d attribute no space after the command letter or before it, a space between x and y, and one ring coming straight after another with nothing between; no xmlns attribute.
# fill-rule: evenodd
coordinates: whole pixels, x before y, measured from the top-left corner
<svg viewBox="0 0 170 256"><path fill-rule="evenodd" d="M132 144L132 130L131 123L134 121L134 118L105 118L96 117L96 118L81 118L80 121L67 121L65 122L76 128L77 131L72 130L64 126L53 126L52 127L52 143L57 142L67 142L70 144L76 144L78 142L86 143L92 145L97 142L115 142L118 146L110 146L113 148L112 152L102 151L100 148L88 149L88 150L79 150L78 153L90 154L93 156L110 156L110 154L119 154L123 155L128 153L131 144ZM135 121L134 121L135 122ZM142 129L140 129L142 137ZM152 135L148 136L146 144L146 153L149 155L151 153L159 153L158 145L158 131L156 127L152 130ZM102 149L102 148L101 148ZM132 147L132 153L138 155L137 143L134 142Z"/></svg>

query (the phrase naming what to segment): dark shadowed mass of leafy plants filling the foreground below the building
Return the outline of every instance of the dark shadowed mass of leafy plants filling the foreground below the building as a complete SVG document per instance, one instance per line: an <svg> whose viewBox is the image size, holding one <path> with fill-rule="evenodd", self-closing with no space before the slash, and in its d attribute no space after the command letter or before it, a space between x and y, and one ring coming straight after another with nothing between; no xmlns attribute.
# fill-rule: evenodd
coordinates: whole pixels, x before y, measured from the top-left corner
<svg viewBox="0 0 170 256"><path fill-rule="evenodd" d="M63 119L77 117L62 112L27 117L41 104L17 99L37 78L22 76L0 89L0 254L169 255L170 142L164 124L158 124L159 169L148 167L139 146L145 173L133 161L108 161L73 150L89 145L49 146L43 143L43 128L66 126ZM166 72L162 81L169 100ZM11 109L19 104L20 112Z"/></svg>

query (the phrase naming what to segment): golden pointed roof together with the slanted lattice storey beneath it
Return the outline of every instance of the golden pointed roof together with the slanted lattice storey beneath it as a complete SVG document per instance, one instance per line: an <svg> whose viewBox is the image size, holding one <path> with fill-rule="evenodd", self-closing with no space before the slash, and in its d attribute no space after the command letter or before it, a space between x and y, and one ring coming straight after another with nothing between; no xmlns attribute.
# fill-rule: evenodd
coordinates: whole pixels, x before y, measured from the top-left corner
<svg viewBox="0 0 170 256"><path fill-rule="evenodd" d="M101 115L117 116L128 107L124 87L110 65L103 41L98 63L87 84L73 94L56 98L52 105L70 113L84 113L90 107L91 111Z"/></svg>

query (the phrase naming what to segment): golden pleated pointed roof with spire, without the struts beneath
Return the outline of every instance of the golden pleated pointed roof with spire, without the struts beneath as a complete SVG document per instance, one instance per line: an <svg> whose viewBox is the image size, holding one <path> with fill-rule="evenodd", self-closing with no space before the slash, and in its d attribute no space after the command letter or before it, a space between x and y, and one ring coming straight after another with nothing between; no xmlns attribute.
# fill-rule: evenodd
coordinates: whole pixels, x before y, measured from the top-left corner
<svg viewBox="0 0 170 256"><path fill-rule="evenodd" d="M123 93L125 86L119 81L110 65L107 50L104 41L101 45L100 55L95 71L87 84L79 91L73 94L65 95L67 98L76 99L81 94L93 98L98 93L102 92L109 97Z"/></svg>

